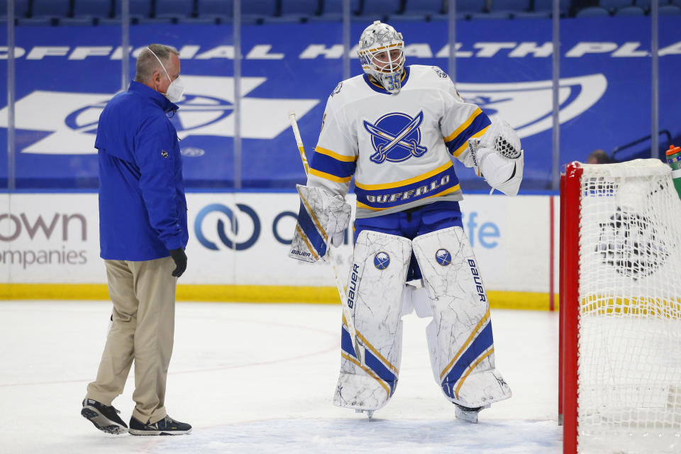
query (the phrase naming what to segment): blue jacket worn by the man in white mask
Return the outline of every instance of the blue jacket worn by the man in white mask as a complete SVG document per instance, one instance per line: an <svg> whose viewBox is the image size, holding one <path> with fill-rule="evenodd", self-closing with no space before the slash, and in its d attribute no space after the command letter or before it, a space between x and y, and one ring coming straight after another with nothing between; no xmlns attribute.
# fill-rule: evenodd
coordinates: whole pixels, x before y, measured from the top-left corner
<svg viewBox="0 0 681 454"><path fill-rule="evenodd" d="M187 246L178 107L138 82L99 116L99 245L107 260L154 260Z"/></svg>

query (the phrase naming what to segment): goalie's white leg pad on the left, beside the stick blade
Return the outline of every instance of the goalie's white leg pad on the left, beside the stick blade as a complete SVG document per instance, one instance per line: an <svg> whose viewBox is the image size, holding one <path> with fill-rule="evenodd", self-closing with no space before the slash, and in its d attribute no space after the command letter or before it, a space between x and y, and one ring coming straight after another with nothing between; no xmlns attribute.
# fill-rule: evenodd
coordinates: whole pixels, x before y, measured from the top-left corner
<svg viewBox="0 0 681 454"><path fill-rule="evenodd" d="M410 258L406 238L374 231L358 236L346 292L364 361L358 361L343 326L333 404L377 410L392 397L402 355L402 293Z"/></svg>

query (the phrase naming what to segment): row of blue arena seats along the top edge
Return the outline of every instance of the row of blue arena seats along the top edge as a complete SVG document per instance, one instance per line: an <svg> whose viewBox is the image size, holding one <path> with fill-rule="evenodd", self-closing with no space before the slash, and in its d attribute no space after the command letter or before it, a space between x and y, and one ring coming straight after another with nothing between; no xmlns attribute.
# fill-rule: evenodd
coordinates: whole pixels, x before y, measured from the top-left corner
<svg viewBox="0 0 681 454"><path fill-rule="evenodd" d="M0 0L0 21L7 1ZM14 0L17 25L110 25L121 23L123 0ZM560 16L643 16L651 0L560 0ZM350 0L351 20L446 21L449 0ZM582 6L578 8L578 6ZM681 14L681 0L660 0L660 16ZM458 0L460 20L550 18L553 0ZM229 23L233 0L130 0L131 23ZM242 0L249 23L340 21L343 0Z"/></svg>

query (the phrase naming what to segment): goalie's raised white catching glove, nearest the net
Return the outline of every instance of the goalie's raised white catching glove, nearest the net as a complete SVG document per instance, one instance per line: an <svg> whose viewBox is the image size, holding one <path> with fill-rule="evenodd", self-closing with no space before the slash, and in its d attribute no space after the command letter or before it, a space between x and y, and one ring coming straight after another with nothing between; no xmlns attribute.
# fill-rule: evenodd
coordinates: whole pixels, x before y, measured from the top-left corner
<svg viewBox="0 0 681 454"><path fill-rule="evenodd" d="M516 131L499 118L482 139L468 140L468 147L475 163L475 171L482 175L489 186L508 196L518 194L523 179L524 155Z"/></svg>

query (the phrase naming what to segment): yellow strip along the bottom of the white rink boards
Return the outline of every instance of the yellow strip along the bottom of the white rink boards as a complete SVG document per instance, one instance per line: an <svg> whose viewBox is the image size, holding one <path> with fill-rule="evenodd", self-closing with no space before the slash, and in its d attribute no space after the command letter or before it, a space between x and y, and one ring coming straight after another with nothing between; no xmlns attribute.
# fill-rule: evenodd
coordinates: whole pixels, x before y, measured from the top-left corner
<svg viewBox="0 0 681 454"><path fill-rule="evenodd" d="M548 294L541 292L487 292L493 309L548 311ZM109 299L106 284L0 284L0 299ZM338 304L336 287L279 285L177 286L177 301ZM558 307L558 295L555 295Z"/></svg>

